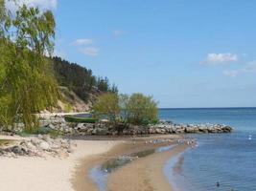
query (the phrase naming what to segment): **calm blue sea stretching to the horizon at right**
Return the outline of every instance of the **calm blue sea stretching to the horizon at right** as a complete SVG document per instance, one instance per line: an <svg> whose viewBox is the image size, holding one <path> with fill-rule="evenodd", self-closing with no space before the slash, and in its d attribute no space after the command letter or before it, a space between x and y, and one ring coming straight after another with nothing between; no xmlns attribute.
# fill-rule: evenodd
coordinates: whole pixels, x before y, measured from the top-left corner
<svg viewBox="0 0 256 191"><path fill-rule="evenodd" d="M164 171L176 190L256 190L256 108L164 109L159 116L181 123L222 123L235 128L233 134L194 136L198 138L196 149L167 162ZM172 163L179 164L175 170ZM218 181L220 187L216 186Z"/></svg>

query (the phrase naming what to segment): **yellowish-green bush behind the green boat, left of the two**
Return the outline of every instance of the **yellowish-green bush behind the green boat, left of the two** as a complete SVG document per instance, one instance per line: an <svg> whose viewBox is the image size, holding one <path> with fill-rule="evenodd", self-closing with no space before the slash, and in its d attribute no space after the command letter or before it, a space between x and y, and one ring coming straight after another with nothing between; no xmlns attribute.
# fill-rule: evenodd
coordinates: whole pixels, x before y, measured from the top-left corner
<svg viewBox="0 0 256 191"><path fill-rule="evenodd" d="M117 94L105 93L98 97L93 106L93 111L96 116L106 116L109 120L115 121L120 114L118 101Z"/></svg>

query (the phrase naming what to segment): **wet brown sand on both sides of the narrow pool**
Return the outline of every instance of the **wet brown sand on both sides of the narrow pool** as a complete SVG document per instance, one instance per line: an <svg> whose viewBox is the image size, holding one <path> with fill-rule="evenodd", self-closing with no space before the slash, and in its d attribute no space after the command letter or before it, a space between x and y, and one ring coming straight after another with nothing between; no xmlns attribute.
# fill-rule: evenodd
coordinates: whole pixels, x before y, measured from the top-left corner
<svg viewBox="0 0 256 191"><path fill-rule="evenodd" d="M112 147L108 152L91 156L87 159L81 159L72 179L73 188L76 191L83 191L85 188L86 190L97 191L97 184L89 177L89 170L91 168L103 163L107 159L113 159L121 155L153 149L171 143L145 144L145 141L157 138L171 138L172 143L175 143L178 138L182 137L169 135L148 138L124 138L122 141L115 140L118 141L118 144ZM135 144L134 141L136 141ZM183 143L175 146L169 151L154 153L148 157L134 160L127 165L118 168L116 171L109 174L106 190L172 190L169 181L164 175L163 166L167 159L183 152L187 147L188 145Z"/></svg>

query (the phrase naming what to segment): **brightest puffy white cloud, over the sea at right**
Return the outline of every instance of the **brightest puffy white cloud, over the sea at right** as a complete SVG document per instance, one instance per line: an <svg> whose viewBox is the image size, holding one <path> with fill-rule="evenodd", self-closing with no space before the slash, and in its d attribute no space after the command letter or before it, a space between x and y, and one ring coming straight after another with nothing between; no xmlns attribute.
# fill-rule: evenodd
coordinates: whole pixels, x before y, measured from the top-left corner
<svg viewBox="0 0 256 191"><path fill-rule="evenodd" d="M238 61L238 55L236 53L208 53L204 65L222 65L228 62Z"/></svg>

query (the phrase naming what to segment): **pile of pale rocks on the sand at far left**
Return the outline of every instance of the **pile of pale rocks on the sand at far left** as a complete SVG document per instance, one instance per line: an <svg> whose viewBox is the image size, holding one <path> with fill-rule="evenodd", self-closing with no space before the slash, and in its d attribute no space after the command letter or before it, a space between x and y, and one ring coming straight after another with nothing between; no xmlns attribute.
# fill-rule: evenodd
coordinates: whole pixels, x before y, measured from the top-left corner
<svg viewBox="0 0 256 191"><path fill-rule="evenodd" d="M38 135L31 139L15 140L0 148L0 156L13 157L67 157L72 152L70 141Z"/></svg>

